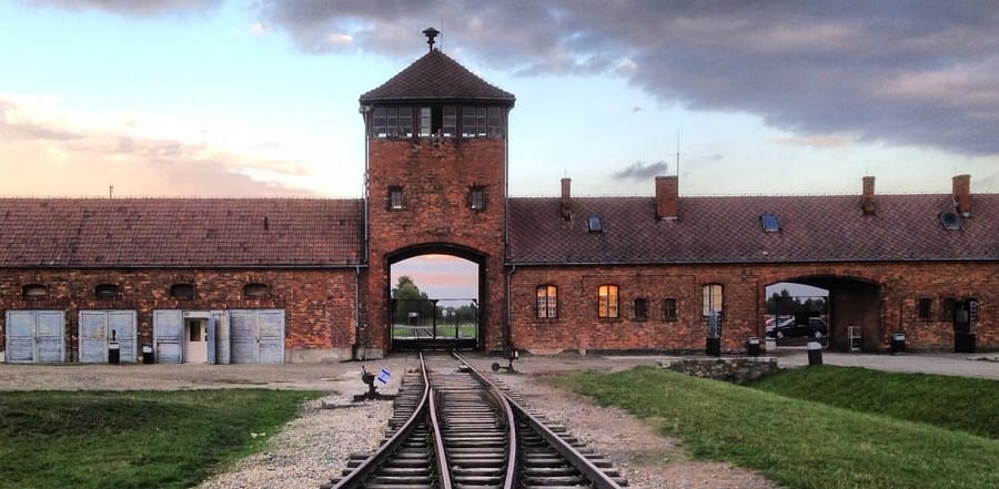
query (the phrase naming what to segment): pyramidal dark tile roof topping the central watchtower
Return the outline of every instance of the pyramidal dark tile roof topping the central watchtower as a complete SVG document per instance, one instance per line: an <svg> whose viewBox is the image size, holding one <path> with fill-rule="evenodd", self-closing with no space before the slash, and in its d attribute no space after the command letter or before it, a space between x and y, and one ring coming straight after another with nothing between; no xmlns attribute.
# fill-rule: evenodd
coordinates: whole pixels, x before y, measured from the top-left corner
<svg viewBox="0 0 999 489"><path fill-rule="evenodd" d="M424 54L381 86L361 95L361 104L377 102L493 101L513 105L514 95L475 75L438 50Z"/></svg>

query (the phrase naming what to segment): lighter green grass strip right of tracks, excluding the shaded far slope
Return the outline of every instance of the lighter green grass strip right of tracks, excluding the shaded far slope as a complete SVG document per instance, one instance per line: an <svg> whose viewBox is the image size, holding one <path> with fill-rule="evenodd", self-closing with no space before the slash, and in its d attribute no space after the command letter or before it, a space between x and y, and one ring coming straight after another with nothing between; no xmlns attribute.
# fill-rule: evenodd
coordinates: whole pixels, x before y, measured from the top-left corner
<svg viewBox="0 0 999 489"><path fill-rule="evenodd" d="M999 441L961 431L662 368L556 383L648 419L696 458L757 469L787 488L999 487Z"/></svg>

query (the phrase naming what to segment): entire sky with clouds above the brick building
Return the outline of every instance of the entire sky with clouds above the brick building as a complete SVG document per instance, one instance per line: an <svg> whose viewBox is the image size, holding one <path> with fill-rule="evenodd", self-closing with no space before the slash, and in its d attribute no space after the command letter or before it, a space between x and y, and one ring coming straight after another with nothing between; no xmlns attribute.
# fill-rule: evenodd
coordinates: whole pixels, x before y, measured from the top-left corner
<svg viewBox="0 0 999 489"><path fill-rule="evenodd" d="M0 0L0 195L361 196L427 27L517 98L511 195L999 192L990 2Z"/></svg>

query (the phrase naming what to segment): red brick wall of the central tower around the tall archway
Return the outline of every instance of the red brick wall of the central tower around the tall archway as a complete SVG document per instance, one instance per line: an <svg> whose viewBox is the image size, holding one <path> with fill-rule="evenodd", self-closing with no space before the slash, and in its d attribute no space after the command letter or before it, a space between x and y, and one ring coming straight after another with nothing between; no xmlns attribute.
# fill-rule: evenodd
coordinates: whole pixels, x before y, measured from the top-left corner
<svg viewBox="0 0 999 489"><path fill-rule="evenodd" d="M506 143L500 140L422 139L369 145L369 275L362 333L369 347L387 350L389 259L416 246L448 246L482 262L480 335L487 349L503 343L503 231ZM389 208L389 189L403 190L405 206ZM482 186L486 207L471 208L468 192ZM421 248L422 247L422 248Z"/></svg>

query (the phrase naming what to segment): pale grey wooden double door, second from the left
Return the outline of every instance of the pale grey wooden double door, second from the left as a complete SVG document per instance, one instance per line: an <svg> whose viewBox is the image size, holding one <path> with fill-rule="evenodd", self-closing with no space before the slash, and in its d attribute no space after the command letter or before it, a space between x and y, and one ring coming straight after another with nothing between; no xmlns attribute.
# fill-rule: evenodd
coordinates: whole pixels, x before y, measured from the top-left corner
<svg viewBox="0 0 999 489"><path fill-rule="evenodd" d="M81 310L80 361L107 363L112 337L118 342L121 361L137 361L135 328L134 310Z"/></svg>

